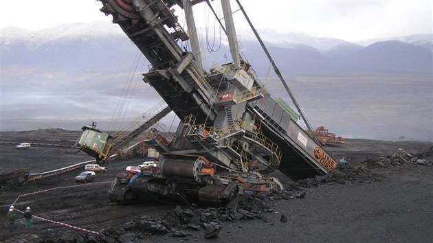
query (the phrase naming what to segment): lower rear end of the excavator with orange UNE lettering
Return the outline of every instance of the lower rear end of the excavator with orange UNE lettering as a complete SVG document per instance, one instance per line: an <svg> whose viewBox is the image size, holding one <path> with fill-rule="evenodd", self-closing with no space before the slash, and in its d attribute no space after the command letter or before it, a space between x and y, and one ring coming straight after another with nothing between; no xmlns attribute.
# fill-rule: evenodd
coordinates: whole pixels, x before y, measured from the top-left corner
<svg viewBox="0 0 433 243"><path fill-rule="evenodd" d="M331 155L309 137L269 93L250 103L249 108L263 118L263 134L280 147L282 159L278 170L289 178L298 180L323 175L337 166Z"/></svg>

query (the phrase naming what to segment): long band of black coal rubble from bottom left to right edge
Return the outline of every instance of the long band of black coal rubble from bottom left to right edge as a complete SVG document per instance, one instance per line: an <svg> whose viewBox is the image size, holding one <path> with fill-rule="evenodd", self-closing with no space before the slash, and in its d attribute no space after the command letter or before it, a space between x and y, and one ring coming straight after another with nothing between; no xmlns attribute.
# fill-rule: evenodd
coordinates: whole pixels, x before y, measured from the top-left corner
<svg viewBox="0 0 433 243"><path fill-rule="evenodd" d="M428 154L409 154L399 150L387 157L381 157L375 161L367 159L362 163L345 163L339 165L333 172L326 176L315 176L293 183L287 183L284 190L271 190L270 192L236 196L225 207L188 207L177 206L174 211L168 211L159 218L140 216L127 222L120 229L107 228L99 231L99 235L76 235L74 242L140 242L152 240L156 235L179 238L179 240L199 240L192 238L192 231L202 231L203 238L216 238L223 228L224 222L237 222L242 220L260 220L271 223L269 214L273 213L275 200L291 200L304 198L307 187L317 187L326 183L345 184L346 181L370 183L381 181L381 175L375 169L381 167L403 167L425 165L431 166L431 161L423 159L431 157L433 149ZM280 222L287 222L282 215ZM197 235L197 234L195 234ZM203 239L202 238L202 239ZM56 241L45 240L43 242L68 242L58 239Z"/></svg>

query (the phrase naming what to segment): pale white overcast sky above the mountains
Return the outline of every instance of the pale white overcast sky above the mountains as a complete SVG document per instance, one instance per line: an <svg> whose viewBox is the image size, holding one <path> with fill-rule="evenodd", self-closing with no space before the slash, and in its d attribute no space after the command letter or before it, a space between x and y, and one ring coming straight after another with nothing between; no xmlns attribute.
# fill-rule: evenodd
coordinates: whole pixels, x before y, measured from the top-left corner
<svg viewBox="0 0 433 243"><path fill-rule="evenodd" d="M432 1L420 0L241 0L258 29L303 32L314 36L359 41L432 33ZM214 5L216 3L214 1ZM206 3L195 6L198 25L204 25ZM39 30L65 23L111 21L96 0L0 1L0 29L16 26ZM232 0L232 10L238 9ZM179 12L177 12L179 14ZM241 12L235 13L235 18ZM235 19L236 20L236 19ZM210 22L208 22L210 23ZM246 27L246 23L236 23Z"/></svg>

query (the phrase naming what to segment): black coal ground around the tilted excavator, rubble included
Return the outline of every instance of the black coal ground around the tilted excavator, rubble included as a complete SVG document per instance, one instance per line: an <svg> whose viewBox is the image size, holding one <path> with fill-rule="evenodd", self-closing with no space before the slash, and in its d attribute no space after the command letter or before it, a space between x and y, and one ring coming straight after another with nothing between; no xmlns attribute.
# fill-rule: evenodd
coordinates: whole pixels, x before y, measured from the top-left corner
<svg viewBox="0 0 433 243"><path fill-rule="evenodd" d="M99 231L99 235L35 220L33 229L2 227L5 242L430 242L433 237L433 170L420 158L432 161L430 144L388 144L388 150L365 152L353 141L334 148L349 158L349 165L329 176L293 183L275 172L287 191L236 198L225 208L190 205L111 205L107 184L81 189L58 189L56 194L24 198L18 208L32 205L34 214ZM374 146L374 145L373 145ZM406 148L405 148L406 146ZM346 148L344 148L346 147ZM357 147L356 149L354 149ZM363 147L363 148L367 148ZM407 152L397 152L397 148ZM413 148L413 150L409 150ZM367 148L368 149L368 148ZM344 152L346 151L346 152ZM384 152L393 151L386 158ZM408 155L408 153L411 153ZM353 155L353 159L351 158ZM362 156L360 156L362 154ZM365 163L357 163L357 159ZM420 157L420 158L419 158ZM130 161L133 163L134 161ZM111 166L120 170L126 163ZM19 195L56 186L74 185L76 173L36 182L26 187L6 186L1 191L1 216ZM98 181L110 176L98 175ZM72 179L72 180L71 180ZM94 188L92 188L94 187ZM103 189L105 187L105 189ZM84 189L85 188L85 189Z"/></svg>

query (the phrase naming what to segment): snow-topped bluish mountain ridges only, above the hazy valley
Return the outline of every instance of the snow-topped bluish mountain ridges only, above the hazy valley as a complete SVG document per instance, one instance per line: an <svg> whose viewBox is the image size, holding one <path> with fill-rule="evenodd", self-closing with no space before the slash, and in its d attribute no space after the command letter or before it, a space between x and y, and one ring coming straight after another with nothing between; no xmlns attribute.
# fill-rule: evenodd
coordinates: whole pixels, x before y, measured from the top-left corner
<svg viewBox="0 0 433 243"><path fill-rule="evenodd" d="M374 43L366 40L361 42L368 43L364 46L300 33L272 36L263 32L263 39L280 71L289 76L429 76L432 73L432 34L401 36ZM34 32L9 27L1 30L0 36L2 67L52 63L93 68L104 65L111 70L134 56L136 51L120 27L105 22L61 25ZM209 53L205 48L202 51L208 63L224 62L223 56L230 56L225 39L216 38L219 38L217 45L222 43L217 53ZM257 73L265 75L269 61L258 42L246 36L241 39L241 49Z"/></svg>

